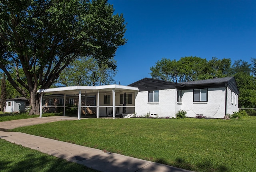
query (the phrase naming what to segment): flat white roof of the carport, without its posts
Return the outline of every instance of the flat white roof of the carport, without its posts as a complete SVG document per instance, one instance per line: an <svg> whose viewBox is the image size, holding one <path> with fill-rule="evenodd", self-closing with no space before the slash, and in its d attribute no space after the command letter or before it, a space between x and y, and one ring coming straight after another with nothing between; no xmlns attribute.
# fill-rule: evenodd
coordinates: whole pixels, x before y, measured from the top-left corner
<svg viewBox="0 0 256 172"><path fill-rule="evenodd" d="M103 85L103 86L68 86L68 87L59 87L59 88L47 88L37 90L37 93L42 94L78 94L81 90L81 94L92 95L100 93L110 93L113 88L115 92L130 92L130 91L139 91L137 87L132 86L122 86L122 85Z"/></svg>

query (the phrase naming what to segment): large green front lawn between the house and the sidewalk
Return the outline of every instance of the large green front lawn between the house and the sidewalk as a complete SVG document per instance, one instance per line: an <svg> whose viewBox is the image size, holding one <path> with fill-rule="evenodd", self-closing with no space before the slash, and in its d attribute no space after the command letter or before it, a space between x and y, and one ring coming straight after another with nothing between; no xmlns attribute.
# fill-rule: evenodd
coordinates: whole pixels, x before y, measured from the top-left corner
<svg viewBox="0 0 256 172"><path fill-rule="evenodd" d="M83 119L12 129L197 172L256 171L256 116Z"/></svg>

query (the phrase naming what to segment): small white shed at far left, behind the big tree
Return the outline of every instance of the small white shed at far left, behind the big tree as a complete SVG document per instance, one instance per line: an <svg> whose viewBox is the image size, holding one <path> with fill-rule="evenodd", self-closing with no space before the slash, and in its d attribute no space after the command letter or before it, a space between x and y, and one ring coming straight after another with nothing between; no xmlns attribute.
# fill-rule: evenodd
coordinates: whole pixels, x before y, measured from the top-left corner
<svg viewBox="0 0 256 172"><path fill-rule="evenodd" d="M26 99L25 97L7 99L5 112L26 112L26 106L29 106L29 102L28 99Z"/></svg>

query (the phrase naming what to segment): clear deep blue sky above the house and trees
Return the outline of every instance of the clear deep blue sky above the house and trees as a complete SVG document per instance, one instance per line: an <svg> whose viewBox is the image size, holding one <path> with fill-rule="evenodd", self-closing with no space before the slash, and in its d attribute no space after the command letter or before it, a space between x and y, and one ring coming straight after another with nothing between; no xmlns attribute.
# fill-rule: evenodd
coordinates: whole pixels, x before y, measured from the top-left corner
<svg viewBox="0 0 256 172"><path fill-rule="evenodd" d="M109 0L124 15L126 45L118 48L115 80L150 78L163 57L256 58L255 0Z"/></svg>

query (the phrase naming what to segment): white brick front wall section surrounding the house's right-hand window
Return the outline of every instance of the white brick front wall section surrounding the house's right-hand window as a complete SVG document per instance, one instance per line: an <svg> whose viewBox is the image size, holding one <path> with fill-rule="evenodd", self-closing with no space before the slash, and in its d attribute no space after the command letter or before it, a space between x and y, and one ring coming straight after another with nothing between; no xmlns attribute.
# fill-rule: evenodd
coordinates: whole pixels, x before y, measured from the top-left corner
<svg viewBox="0 0 256 172"><path fill-rule="evenodd" d="M193 89L182 90L181 109L187 112L188 117L203 114L210 118L224 118L226 88L208 88L208 102L194 102ZM179 110L179 109L177 109Z"/></svg>

